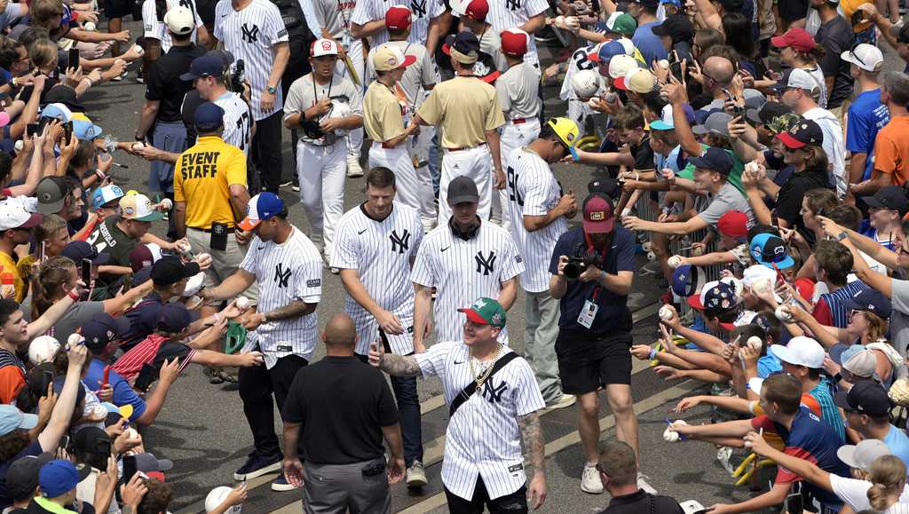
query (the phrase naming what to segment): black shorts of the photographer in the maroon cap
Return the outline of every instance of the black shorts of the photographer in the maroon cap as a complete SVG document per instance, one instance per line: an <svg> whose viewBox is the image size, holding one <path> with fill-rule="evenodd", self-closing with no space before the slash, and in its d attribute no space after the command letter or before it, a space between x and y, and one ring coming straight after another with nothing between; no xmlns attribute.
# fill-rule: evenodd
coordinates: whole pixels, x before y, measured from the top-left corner
<svg viewBox="0 0 909 514"><path fill-rule="evenodd" d="M598 338L560 330L555 339L562 392L580 395L609 384L631 384L631 345L628 332Z"/></svg>

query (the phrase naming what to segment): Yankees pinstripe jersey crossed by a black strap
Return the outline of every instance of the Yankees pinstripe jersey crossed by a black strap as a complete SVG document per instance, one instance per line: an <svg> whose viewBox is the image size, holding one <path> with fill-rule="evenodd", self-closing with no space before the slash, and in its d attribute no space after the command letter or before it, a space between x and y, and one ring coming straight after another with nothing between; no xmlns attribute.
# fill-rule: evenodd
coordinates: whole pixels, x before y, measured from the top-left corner
<svg viewBox="0 0 909 514"><path fill-rule="evenodd" d="M504 348L502 355L510 351ZM470 350L461 341L436 343L414 357L424 378L442 380L449 406L474 380L467 363ZM491 499L520 489L526 477L518 418L544 407L534 371L524 358L514 358L499 369L448 421L442 461L445 488L471 499L479 474Z"/></svg>

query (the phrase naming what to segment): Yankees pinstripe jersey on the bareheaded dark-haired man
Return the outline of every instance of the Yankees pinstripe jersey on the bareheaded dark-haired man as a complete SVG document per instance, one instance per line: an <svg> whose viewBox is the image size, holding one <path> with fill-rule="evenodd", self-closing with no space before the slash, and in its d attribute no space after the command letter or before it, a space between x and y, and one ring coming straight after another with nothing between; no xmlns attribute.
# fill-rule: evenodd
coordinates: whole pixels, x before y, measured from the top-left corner
<svg viewBox="0 0 909 514"><path fill-rule="evenodd" d="M414 351L414 285L410 281L410 258L423 242L420 215L412 207L395 202L382 221L368 217L363 205L347 211L335 231L332 267L355 269L369 297L391 312L405 326L400 336L386 334L392 352L407 355ZM345 312L354 318L356 353L366 355L378 334L375 317L354 297L345 294Z"/></svg>

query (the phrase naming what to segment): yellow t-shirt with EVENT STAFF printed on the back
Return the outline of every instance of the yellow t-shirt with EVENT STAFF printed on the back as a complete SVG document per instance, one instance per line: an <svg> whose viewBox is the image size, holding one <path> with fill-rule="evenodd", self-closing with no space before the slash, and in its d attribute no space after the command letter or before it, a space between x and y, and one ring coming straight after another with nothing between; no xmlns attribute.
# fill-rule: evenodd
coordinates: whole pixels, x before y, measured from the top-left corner
<svg viewBox="0 0 909 514"><path fill-rule="evenodd" d="M234 225L230 186L246 186L246 156L218 136L199 137L176 160L174 199L186 204L186 227Z"/></svg>

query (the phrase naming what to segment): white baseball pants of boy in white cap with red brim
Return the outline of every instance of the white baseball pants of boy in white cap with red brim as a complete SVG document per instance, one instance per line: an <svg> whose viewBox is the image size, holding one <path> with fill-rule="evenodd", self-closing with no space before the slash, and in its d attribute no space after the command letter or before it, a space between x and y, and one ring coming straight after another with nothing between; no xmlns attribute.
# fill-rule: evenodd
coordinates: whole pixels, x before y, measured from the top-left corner
<svg viewBox="0 0 909 514"><path fill-rule="evenodd" d="M323 251L332 255L335 227L344 215L344 181L347 151L344 139L334 145L317 146L301 139L296 145L296 173L300 180L300 200L313 242L324 241ZM316 245L318 246L318 245Z"/></svg>

